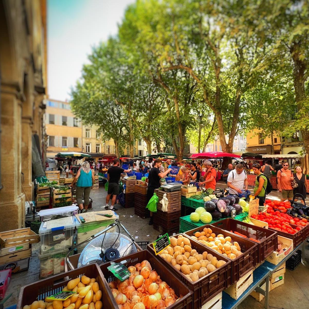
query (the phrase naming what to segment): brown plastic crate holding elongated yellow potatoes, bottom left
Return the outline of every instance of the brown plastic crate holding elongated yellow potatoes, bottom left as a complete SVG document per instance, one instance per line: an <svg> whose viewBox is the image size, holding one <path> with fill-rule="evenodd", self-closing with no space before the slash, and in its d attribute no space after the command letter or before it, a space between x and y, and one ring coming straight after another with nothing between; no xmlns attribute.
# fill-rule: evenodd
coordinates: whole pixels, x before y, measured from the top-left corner
<svg viewBox="0 0 309 309"><path fill-rule="evenodd" d="M68 281L76 277L81 277L82 275L95 278L99 283L100 290L102 291L101 301L104 309L118 308L112 302L111 295L108 293L109 288L107 289L101 270L96 264L87 265L23 286L19 293L16 308L23 308L25 305L31 305L35 300L44 300L49 295L59 293ZM114 299L113 296L112 298Z"/></svg>

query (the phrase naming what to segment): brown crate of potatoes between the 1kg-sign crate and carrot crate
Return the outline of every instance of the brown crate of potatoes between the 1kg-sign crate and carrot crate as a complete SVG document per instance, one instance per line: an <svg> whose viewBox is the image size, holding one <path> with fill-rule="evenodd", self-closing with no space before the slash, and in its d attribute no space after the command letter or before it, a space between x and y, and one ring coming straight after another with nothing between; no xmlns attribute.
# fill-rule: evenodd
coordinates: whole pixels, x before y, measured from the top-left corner
<svg viewBox="0 0 309 309"><path fill-rule="evenodd" d="M237 241L240 248L241 248L241 252L243 252L242 255L236 257L233 260L230 259L230 258L227 258L232 262L232 277L231 277L232 280L230 281L230 284L234 284L243 275L245 275L250 270L255 268L255 266L258 264L258 254L259 254L259 249L258 249L257 243L254 243L254 242L252 242L248 239L237 236L234 233L224 231L224 230L219 229L218 227L212 226L212 225L203 225L203 226L197 227L193 230L187 231L184 234L191 237L191 236L193 236L193 234L195 232L203 231L203 229L205 227L211 228L213 233L215 233L216 235L223 234L224 237L230 236L231 239L232 239L231 242L234 243L234 241ZM204 246L202 243L201 243L201 245L205 248L209 248L209 247ZM211 248L210 248L210 250L212 252L217 252L217 251L215 251ZM220 254L220 256L222 256L222 254Z"/></svg>

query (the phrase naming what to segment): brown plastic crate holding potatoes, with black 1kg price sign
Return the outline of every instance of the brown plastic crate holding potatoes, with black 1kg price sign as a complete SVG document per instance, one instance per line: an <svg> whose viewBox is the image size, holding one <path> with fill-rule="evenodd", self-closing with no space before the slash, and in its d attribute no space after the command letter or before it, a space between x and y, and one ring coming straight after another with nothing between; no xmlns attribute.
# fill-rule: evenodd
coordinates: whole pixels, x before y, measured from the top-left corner
<svg viewBox="0 0 309 309"><path fill-rule="evenodd" d="M178 234L184 235L184 234ZM174 237L178 237L175 235ZM185 236L185 235L184 235ZM192 282L188 278L168 263L163 256L157 255L158 259L161 259L161 264L165 265L168 270L176 275L190 290L193 291L193 309L201 308L205 303L207 303L211 298L219 294L221 291L225 290L230 286L229 282L231 281L231 260L222 256L218 252L214 252L208 247L203 246L201 243L197 242L194 239L190 239L192 249L195 249L198 253L203 253L204 251L211 253L218 260L226 261L226 264L222 265L220 268L209 273L208 275L200 278L199 280ZM147 249L155 255L152 243L147 246Z"/></svg>

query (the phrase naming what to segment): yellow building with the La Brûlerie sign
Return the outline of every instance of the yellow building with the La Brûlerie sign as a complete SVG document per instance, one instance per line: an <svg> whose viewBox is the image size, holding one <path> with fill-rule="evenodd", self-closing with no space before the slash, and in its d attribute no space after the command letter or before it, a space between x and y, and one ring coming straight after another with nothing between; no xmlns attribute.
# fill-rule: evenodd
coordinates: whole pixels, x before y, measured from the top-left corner
<svg viewBox="0 0 309 309"><path fill-rule="evenodd" d="M271 137L265 137L263 131L254 129L247 134L246 151L259 155L274 154L279 155L281 151L281 139L277 134L273 134L273 151Z"/></svg>

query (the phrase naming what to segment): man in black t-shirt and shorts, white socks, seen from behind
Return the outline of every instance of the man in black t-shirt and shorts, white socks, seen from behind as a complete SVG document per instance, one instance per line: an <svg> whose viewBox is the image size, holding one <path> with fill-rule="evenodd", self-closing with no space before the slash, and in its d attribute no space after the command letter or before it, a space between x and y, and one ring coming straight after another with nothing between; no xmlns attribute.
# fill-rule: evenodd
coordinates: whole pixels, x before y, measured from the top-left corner
<svg viewBox="0 0 309 309"><path fill-rule="evenodd" d="M119 194L119 180L122 173L128 173L131 170L124 170L122 167L119 167L120 162L119 159L114 159L114 165L110 167L107 171L107 181L108 181L108 189L106 196L106 204L105 210L108 210L108 202L112 197L112 205L111 210L117 210L114 205L116 202L117 195Z"/></svg>

